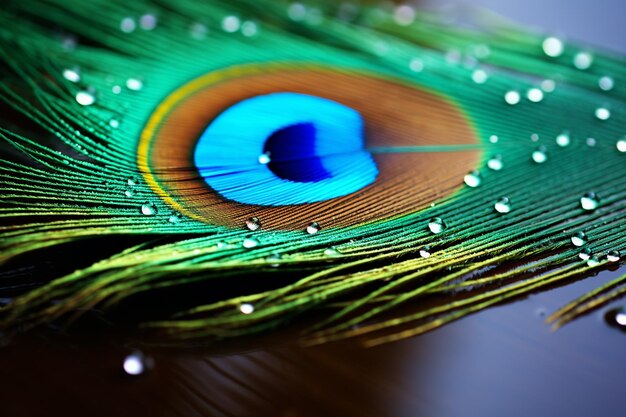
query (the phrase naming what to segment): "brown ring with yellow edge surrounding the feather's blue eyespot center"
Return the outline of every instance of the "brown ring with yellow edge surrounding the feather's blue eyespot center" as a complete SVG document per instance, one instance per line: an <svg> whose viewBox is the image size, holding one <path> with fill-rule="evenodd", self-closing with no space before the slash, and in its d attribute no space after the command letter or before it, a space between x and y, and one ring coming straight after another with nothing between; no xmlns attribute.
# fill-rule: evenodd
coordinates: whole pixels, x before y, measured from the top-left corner
<svg viewBox="0 0 626 417"><path fill-rule="evenodd" d="M324 228L345 227L428 207L457 190L480 160L477 150L379 154L377 180L344 197L278 207L226 200L195 169L196 142L228 107L274 92L324 97L357 110L365 120L367 147L479 142L468 118L450 100L402 80L322 65L245 65L201 76L157 107L138 148L146 182L173 209L205 223L242 227L258 217L269 230L299 230L313 221Z"/></svg>

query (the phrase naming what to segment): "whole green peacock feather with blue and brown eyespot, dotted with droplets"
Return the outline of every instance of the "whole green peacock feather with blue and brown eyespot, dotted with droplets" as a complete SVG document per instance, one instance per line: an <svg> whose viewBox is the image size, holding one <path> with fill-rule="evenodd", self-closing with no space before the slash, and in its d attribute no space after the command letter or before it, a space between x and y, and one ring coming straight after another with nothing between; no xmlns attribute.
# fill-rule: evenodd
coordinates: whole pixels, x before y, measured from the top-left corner
<svg viewBox="0 0 626 417"><path fill-rule="evenodd" d="M0 62L6 331L377 344L623 264L609 51L406 5L20 0Z"/></svg>

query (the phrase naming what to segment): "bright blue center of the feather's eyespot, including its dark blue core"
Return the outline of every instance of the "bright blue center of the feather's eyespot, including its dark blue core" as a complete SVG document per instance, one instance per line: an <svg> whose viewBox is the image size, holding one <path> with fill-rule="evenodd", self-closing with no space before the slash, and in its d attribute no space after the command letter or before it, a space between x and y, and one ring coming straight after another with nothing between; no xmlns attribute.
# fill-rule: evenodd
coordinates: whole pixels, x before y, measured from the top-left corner
<svg viewBox="0 0 626 417"><path fill-rule="evenodd" d="M222 197L282 206L325 201L373 183L359 112L296 93L252 97L224 110L202 133L194 163ZM260 156L266 159L262 163Z"/></svg>

